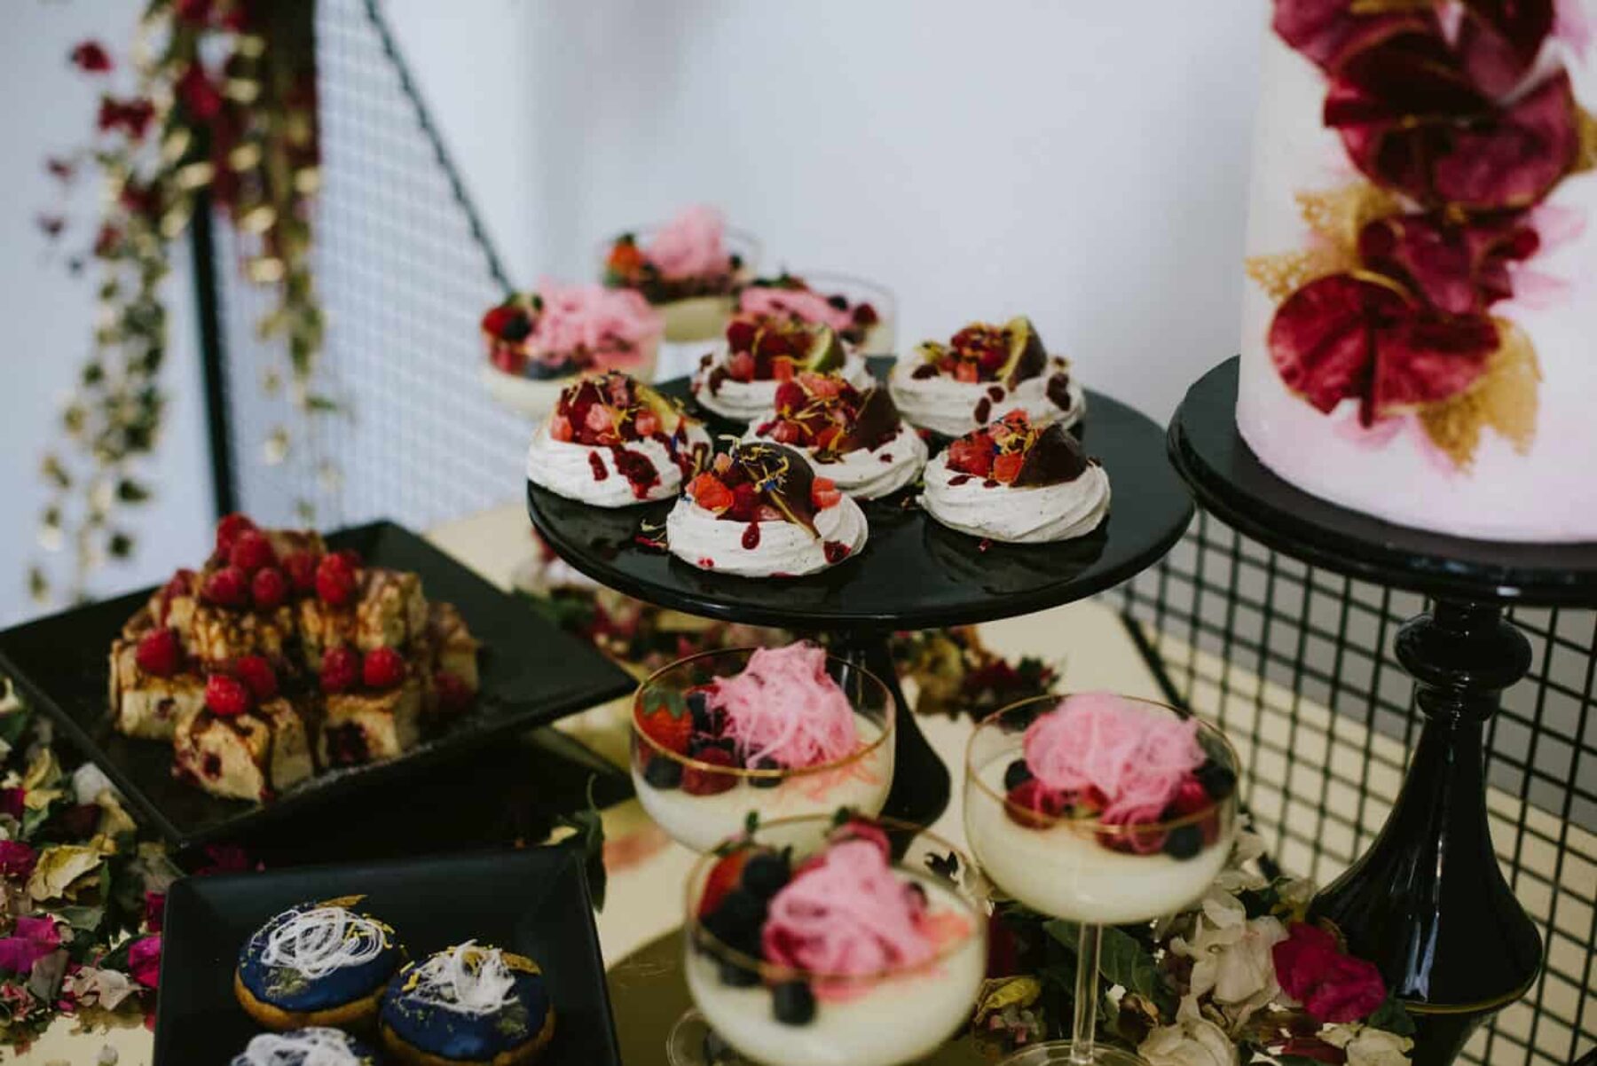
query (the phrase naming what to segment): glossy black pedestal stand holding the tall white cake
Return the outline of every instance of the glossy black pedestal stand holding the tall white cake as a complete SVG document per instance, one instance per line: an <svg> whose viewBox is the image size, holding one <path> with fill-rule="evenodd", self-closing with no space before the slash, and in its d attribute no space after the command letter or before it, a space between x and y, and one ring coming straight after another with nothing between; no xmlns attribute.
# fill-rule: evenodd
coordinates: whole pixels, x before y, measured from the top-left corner
<svg viewBox="0 0 1597 1066"><path fill-rule="evenodd" d="M1450 1063L1493 1012L1524 996L1541 938L1492 851L1482 731L1530 669L1512 603L1597 603L1597 544L1437 536L1310 496L1271 474L1236 431L1238 361L1187 393L1169 450L1198 503L1241 533L1353 578L1433 597L1397 632L1425 726L1380 836L1316 898L1373 959L1420 1028L1415 1063Z"/></svg>

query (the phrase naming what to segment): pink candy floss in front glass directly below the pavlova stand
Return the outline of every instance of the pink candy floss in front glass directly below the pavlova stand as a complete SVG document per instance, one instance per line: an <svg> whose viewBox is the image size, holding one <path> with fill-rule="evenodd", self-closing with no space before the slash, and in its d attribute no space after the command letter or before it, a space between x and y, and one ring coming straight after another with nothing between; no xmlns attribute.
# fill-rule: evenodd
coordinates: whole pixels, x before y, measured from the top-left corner
<svg viewBox="0 0 1597 1066"><path fill-rule="evenodd" d="M859 744L854 709L826 672L826 651L808 642L757 649L741 673L715 681L709 705L727 713L725 736L749 766L835 763Z"/></svg>

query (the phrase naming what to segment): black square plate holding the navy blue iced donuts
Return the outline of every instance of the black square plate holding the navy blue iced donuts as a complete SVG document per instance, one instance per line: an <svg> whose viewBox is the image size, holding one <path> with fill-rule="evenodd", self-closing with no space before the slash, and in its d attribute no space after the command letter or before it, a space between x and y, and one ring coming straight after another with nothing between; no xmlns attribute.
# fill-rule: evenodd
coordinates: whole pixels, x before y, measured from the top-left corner
<svg viewBox="0 0 1597 1066"><path fill-rule="evenodd" d="M166 897L155 1066L228 1063L262 1031L233 999L238 950L295 903L363 894L412 959L478 940L543 967L556 1012L546 1066L620 1064L581 859L529 847L184 878Z"/></svg>

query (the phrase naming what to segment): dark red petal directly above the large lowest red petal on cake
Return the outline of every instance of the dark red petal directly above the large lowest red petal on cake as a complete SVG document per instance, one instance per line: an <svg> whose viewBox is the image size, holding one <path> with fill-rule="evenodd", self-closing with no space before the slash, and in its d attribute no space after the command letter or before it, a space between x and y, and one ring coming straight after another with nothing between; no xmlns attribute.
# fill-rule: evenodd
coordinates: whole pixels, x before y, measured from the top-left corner
<svg viewBox="0 0 1597 1066"><path fill-rule="evenodd" d="M1541 246L1522 215L1450 222L1440 212L1377 219L1359 231L1359 259L1431 306L1476 314L1514 295L1508 265Z"/></svg>

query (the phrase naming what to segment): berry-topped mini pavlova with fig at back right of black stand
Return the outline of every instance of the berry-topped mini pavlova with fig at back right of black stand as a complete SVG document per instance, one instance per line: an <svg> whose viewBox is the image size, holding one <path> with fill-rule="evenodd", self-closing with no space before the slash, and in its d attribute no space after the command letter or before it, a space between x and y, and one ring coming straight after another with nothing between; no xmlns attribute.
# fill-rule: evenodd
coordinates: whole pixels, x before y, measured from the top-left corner
<svg viewBox="0 0 1597 1066"><path fill-rule="evenodd" d="M1088 396L1070 361L1051 356L1028 318L1003 326L971 322L947 343L928 340L901 356L888 375L893 399L910 423L958 437L1011 410L1067 429L1086 413Z"/></svg>

